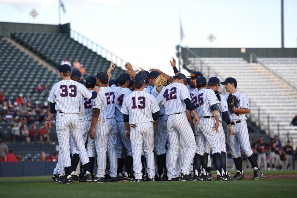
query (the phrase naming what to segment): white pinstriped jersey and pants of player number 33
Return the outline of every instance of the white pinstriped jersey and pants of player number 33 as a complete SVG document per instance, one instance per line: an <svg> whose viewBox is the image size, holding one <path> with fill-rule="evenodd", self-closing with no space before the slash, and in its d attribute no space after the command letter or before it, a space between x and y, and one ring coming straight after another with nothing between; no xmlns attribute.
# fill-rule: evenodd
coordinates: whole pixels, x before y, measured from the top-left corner
<svg viewBox="0 0 297 198"><path fill-rule="evenodd" d="M83 136L79 130L79 101L82 97L90 99L92 93L82 84L70 79L61 80L54 84L48 97L49 102L56 103L56 131L63 167L71 166L70 136L74 140L82 164L89 162L83 144Z"/></svg>

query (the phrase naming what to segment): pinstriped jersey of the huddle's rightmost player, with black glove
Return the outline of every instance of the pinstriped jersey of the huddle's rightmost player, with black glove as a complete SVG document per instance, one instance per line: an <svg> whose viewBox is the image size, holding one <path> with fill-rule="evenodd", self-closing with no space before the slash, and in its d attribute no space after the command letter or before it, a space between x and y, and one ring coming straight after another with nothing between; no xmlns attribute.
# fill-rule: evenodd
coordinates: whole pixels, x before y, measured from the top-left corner
<svg viewBox="0 0 297 198"><path fill-rule="evenodd" d="M249 107L249 98L244 95L243 93L236 91L235 93L233 93L232 95L235 95L239 101L237 108L246 108L246 109L251 109ZM227 100L229 94L225 94L224 97ZM230 120L247 120L247 117L245 116L245 114L236 114L234 112L230 112L230 110L228 109L228 113L230 116Z"/></svg>

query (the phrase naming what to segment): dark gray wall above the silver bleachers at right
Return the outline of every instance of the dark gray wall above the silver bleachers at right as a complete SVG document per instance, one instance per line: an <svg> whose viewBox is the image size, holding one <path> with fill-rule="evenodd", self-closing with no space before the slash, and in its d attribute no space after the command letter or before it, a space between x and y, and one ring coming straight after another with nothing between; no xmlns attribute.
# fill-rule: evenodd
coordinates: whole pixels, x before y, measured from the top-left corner
<svg viewBox="0 0 297 198"><path fill-rule="evenodd" d="M243 58L249 62L249 56L254 53L261 58L293 58L297 57L297 48L244 48L245 52L242 53L242 48L189 48L196 55L201 58ZM187 48L181 49L181 58L195 57L187 52Z"/></svg>

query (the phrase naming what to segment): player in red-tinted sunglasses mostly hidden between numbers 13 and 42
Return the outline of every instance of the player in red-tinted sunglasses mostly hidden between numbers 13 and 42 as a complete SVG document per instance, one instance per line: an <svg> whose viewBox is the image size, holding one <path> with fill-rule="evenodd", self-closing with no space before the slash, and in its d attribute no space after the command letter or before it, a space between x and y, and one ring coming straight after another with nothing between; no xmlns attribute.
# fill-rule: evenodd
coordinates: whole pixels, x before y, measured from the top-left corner
<svg viewBox="0 0 297 198"><path fill-rule="evenodd" d="M151 89L151 94L157 98L158 92L156 90L155 86L155 80L160 75L158 71L151 71L149 74L149 85L153 87ZM164 89L165 87L163 87ZM166 114L165 114L165 108L162 106L160 108L159 114L158 114L158 121L156 124L156 128L154 130L154 153L157 158L157 174L156 174L156 180L157 181L166 181L167 180L167 170L166 170L166 141L168 138L168 132L166 127Z"/></svg>

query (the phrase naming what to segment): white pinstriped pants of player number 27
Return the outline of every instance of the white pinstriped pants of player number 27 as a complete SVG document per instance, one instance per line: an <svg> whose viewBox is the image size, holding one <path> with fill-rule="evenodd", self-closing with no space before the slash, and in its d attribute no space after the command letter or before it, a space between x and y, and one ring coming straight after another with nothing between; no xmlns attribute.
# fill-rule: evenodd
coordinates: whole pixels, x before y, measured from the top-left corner
<svg viewBox="0 0 297 198"><path fill-rule="evenodd" d="M118 132L114 118L98 120L95 128L95 145L97 151L97 177L104 177L106 168L106 153L110 164L110 177L116 177L118 158L116 141Z"/></svg>

